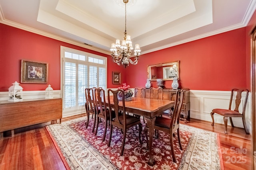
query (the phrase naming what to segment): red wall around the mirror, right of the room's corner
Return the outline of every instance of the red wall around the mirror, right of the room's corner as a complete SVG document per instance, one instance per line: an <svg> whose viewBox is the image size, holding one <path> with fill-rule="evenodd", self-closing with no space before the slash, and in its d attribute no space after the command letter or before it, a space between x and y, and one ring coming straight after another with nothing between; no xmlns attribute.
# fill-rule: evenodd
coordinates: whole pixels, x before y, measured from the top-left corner
<svg viewBox="0 0 256 170"><path fill-rule="evenodd" d="M131 87L144 87L147 66L180 61L180 88L231 90L248 88L246 27L184 43L140 56L136 67L127 68ZM165 81L171 88L172 81ZM152 82L156 87L156 82Z"/></svg>

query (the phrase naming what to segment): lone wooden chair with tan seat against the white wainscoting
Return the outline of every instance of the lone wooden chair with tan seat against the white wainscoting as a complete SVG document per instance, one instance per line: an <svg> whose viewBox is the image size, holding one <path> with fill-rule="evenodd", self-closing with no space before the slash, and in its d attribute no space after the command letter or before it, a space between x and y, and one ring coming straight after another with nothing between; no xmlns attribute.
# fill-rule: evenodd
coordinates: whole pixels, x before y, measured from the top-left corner
<svg viewBox="0 0 256 170"><path fill-rule="evenodd" d="M232 102L233 102L234 92L236 92L236 100L235 100L235 108L234 108L234 110L232 110L231 106L232 106ZM240 113L239 106L241 103L242 92L245 92L245 99L244 99L244 105L242 107L242 112ZM228 117L229 117L230 124L232 127L234 127L232 117L242 117L245 133L249 134L249 131L246 129L246 120L245 120L245 109L246 109L246 104L247 104L247 100L248 100L248 95L249 95L249 90L247 90L247 89L243 89L243 90L232 89L228 109L212 109L212 112L211 112L212 126L214 125L214 117L213 117L214 113L224 116L223 120L224 120L224 125L225 125L225 133L228 133Z"/></svg>

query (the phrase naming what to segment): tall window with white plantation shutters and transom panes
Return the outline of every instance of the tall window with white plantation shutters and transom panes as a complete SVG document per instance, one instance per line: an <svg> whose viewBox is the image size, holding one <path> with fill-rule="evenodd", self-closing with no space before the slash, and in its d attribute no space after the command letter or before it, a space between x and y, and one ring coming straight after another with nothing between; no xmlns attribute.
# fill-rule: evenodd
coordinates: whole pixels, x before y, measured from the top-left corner
<svg viewBox="0 0 256 170"><path fill-rule="evenodd" d="M61 47L61 58L63 114L84 112L84 89L106 89L106 57Z"/></svg>

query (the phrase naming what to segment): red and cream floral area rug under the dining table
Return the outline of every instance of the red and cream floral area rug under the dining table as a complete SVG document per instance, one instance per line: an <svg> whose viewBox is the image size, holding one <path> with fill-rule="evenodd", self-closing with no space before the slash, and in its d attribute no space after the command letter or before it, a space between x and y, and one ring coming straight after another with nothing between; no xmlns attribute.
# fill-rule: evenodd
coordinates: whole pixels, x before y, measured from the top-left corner
<svg viewBox="0 0 256 170"><path fill-rule="evenodd" d="M72 170L220 170L223 168L222 155L218 152L218 134L188 125L180 124L180 140L174 137L176 162L172 162L170 139L167 133L159 133L153 139L152 148L155 164L147 164L149 156L146 139L142 131L142 144L138 130L130 128L126 133L124 154L120 156L122 132L114 127L111 145L108 147L109 128L106 140L102 142L104 122L99 124L98 133L92 133L93 120L88 129L86 117L46 126L54 145L67 169ZM144 126L143 120L142 125Z"/></svg>

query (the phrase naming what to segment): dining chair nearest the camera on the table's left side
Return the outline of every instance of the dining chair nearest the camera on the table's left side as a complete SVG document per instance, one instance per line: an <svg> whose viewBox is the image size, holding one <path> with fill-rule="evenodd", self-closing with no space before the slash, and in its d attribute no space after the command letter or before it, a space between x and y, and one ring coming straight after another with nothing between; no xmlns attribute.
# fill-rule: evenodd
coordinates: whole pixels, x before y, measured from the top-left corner
<svg viewBox="0 0 256 170"><path fill-rule="evenodd" d="M122 107L118 106L118 98L117 94L122 93ZM113 101L114 101L114 106L111 106L110 104L110 93L113 94ZM113 130L113 125L122 129L123 130L123 140L122 140L122 147L121 147L121 152L120 155L123 155L124 152L124 143L125 143L125 138L126 138L126 132L127 129L130 127L139 125L139 141L141 142L141 132L142 132L142 124L140 123L140 118L135 117L129 114L126 114L126 109L125 109L125 101L124 101L124 91L121 89L118 90L111 90L108 89L108 107L110 110L114 110L115 112L115 118L112 117L112 114L110 114L110 135L109 135L109 141L108 141L108 147L110 147L111 143L111 138L112 138L112 130Z"/></svg>

